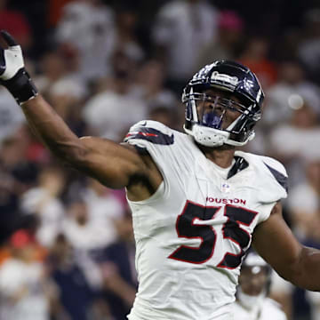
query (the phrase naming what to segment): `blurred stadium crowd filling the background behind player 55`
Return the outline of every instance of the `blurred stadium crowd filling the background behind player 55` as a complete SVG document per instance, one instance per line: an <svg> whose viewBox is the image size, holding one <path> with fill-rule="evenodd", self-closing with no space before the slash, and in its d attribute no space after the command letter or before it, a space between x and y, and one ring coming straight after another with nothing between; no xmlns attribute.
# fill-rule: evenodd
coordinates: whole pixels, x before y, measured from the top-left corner
<svg viewBox="0 0 320 320"><path fill-rule="evenodd" d="M267 98L245 151L285 165L284 218L320 248L320 5L257 3L0 0L0 28L73 132L118 142L141 119L181 131L196 70L247 65ZM0 230L0 320L125 319L138 279L124 190L58 163L3 88ZM275 276L271 294L289 319L320 319L319 293Z"/></svg>

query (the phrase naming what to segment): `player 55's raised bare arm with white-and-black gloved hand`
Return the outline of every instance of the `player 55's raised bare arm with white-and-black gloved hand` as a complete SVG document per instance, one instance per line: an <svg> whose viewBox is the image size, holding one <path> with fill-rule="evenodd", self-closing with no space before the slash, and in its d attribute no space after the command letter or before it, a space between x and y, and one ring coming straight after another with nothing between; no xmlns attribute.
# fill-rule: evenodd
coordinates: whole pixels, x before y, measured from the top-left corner
<svg viewBox="0 0 320 320"><path fill-rule="evenodd" d="M79 139L37 92L24 68L19 44L6 31L1 36L8 48L0 48L0 84L20 104L28 124L55 156L100 180L109 188L123 188L133 176L148 168L130 148L99 138Z"/></svg>

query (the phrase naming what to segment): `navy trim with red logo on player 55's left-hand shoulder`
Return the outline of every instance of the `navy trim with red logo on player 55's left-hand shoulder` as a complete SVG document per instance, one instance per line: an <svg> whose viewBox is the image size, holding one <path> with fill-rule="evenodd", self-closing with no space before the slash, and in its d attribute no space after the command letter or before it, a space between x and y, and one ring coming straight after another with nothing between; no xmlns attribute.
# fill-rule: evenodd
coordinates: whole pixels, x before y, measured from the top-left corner
<svg viewBox="0 0 320 320"><path fill-rule="evenodd" d="M172 133L170 136L153 128L139 127L137 131L129 132L125 136L124 141L132 139L142 139L151 143L169 146L174 142L174 135Z"/></svg>

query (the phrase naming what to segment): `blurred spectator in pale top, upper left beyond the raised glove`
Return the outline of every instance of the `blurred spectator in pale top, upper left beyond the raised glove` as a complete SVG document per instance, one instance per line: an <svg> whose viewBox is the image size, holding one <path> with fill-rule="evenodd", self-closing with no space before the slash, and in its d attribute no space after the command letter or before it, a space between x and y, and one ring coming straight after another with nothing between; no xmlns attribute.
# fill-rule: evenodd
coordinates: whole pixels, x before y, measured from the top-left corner
<svg viewBox="0 0 320 320"><path fill-rule="evenodd" d="M84 80L110 73L114 23L114 12L100 0L75 0L63 7L56 38L61 49L78 57Z"/></svg>

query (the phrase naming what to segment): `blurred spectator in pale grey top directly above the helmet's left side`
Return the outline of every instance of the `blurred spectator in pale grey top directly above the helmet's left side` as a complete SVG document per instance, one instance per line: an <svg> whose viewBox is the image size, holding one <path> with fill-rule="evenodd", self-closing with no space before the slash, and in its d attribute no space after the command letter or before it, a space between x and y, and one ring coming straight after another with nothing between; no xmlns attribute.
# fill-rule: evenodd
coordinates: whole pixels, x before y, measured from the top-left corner
<svg viewBox="0 0 320 320"><path fill-rule="evenodd" d="M153 40L173 91L180 94L192 76L199 51L216 36L218 20L217 10L205 0L172 0L157 12Z"/></svg>

